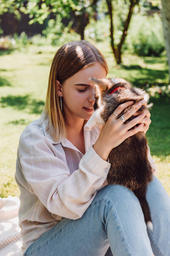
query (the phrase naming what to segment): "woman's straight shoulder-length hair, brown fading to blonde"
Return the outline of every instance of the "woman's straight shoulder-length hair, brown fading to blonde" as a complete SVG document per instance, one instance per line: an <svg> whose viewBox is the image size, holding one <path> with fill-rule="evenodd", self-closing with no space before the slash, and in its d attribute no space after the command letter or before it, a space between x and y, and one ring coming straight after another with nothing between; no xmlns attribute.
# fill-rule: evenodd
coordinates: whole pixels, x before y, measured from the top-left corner
<svg viewBox="0 0 170 256"><path fill-rule="evenodd" d="M48 118L47 131L54 140L62 141L67 137L66 113L64 108L62 111L60 109L56 80L63 84L82 68L96 62L102 64L107 74L108 65L104 56L94 45L85 40L69 42L56 52L51 64L45 106L40 118L40 123Z"/></svg>

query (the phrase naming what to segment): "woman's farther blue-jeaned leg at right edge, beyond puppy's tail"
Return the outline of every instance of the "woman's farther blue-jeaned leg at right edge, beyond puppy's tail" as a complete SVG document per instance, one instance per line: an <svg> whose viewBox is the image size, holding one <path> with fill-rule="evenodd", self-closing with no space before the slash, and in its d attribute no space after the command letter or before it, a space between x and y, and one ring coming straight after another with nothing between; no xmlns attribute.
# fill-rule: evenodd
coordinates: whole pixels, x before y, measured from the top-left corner
<svg viewBox="0 0 170 256"><path fill-rule="evenodd" d="M147 202L153 222L153 232L147 229L155 256L170 256L170 197L154 176L147 187Z"/></svg>

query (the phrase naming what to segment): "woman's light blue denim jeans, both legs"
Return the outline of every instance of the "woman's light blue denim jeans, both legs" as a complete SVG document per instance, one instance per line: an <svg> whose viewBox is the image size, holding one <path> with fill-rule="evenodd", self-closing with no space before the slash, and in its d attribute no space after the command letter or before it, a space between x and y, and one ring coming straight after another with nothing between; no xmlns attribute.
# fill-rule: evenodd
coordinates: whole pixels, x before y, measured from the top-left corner
<svg viewBox="0 0 170 256"><path fill-rule="evenodd" d="M24 256L170 256L170 197L156 177L148 185L147 201L153 232L133 192L107 185L97 191L81 218L64 218Z"/></svg>

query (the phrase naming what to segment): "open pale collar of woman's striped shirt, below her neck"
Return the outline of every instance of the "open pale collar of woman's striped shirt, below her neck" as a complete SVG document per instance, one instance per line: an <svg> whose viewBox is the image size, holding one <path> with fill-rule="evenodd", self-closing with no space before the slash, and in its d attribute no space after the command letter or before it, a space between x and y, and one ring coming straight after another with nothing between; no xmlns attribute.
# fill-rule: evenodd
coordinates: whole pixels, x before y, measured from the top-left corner
<svg viewBox="0 0 170 256"><path fill-rule="evenodd" d="M67 138L65 140L58 140L58 141L54 140L54 138L48 133L47 126L48 126L48 119L46 118L44 121L42 121L42 129L43 129L45 137L47 137L49 140L51 140L52 144L61 143L63 147L72 148L74 150L79 151ZM99 133L100 133L99 125L97 125L97 127L94 128L92 131L84 130L85 152L88 151L88 149L92 145L94 145L94 143L96 142L96 140L99 137Z"/></svg>

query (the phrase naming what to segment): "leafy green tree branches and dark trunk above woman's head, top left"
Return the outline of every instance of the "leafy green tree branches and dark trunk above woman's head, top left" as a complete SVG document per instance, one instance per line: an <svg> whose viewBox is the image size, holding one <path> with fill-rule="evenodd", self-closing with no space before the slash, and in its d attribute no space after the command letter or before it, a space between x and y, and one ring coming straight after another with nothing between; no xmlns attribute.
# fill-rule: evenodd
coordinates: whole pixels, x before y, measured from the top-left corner
<svg viewBox="0 0 170 256"><path fill-rule="evenodd" d="M76 32L84 39L85 27L90 17L96 12L98 0L0 0L0 15L5 12L14 13L20 19L20 12L29 14L29 24L38 22L42 24L51 14L53 18L59 15L61 18L76 20ZM71 15L72 14L72 15Z"/></svg>

